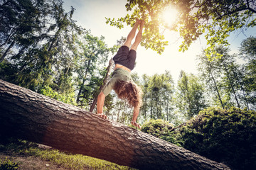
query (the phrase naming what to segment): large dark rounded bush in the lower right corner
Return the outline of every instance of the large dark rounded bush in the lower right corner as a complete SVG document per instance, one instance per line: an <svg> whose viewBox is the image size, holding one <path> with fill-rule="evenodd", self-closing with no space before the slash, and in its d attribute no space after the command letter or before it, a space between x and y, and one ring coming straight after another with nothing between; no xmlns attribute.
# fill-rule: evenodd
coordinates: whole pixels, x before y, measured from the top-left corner
<svg viewBox="0 0 256 170"><path fill-rule="evenodd" d="M231 169L256 168L256 113L208 108L181 128L183 147Z"/></svg>

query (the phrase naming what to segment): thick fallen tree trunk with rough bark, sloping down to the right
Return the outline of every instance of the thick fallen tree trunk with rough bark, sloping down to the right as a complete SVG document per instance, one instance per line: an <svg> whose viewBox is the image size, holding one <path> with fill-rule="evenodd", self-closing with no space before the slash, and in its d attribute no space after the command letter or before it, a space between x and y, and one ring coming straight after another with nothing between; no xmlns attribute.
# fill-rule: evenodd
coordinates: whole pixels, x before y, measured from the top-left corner
<svg viewBox="0 0 256 170"><path fill-rule="evenodd" d="M229 169L169 142L0 80L0 132L137 169Z"/></svg>

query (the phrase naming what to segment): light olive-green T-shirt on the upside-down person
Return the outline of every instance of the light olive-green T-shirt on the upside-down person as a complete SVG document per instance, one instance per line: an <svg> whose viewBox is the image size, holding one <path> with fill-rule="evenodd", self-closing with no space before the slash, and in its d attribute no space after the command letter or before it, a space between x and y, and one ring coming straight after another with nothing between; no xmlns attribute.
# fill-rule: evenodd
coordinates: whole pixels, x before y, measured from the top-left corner
<svg viewBox="0 0 256 170"><path fill-rule="evenodd" d="M110 94L110 91L114 89L114 85L118 81L132 81L131 73L125 69L121 69L121 68L115 69L114 72L112 73L112 78L102 90L103 94L105 94L105 96Z"/></svg>

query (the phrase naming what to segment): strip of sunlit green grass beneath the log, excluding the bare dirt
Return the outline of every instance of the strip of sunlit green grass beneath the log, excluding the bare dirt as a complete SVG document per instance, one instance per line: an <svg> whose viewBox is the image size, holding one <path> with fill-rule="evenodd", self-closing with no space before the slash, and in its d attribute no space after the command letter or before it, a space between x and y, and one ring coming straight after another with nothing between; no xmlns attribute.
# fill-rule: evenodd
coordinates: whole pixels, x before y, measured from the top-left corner
<svg viewBox="0 0 256 170"><path fill-rule="evenodd" d="M51 162L65 169L120 169L132 170L128 166L119 166L112 162L107 162L102 159L87 157L81 154L68 154L60 152L56 149L42 149L37 144L24 140L15 140L8 144L0 144L0 152L9 154L23 154L24 156L33 156L42 159L43 161ZM19 162L20 163L20 162ZM18 164L19 164L18 163Z"/></svg>

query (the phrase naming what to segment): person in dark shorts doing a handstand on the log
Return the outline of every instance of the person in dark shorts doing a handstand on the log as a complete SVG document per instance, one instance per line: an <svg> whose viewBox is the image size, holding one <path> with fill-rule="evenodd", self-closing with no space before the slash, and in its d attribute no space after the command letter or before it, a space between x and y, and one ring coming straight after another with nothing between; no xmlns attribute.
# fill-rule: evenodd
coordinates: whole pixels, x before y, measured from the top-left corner
<svg viewBox="0 0 256 170"><path fill-rule="evenodd" d="M138 26L139 32L131 49L129 49ZM97 115L107 119L107 116L103 113L103 105L105 97L114 89L119 98L126 99L129 105L134 108L131 123L137 128L141 128L139 123L136 123L136 120L139 115L139 108L142 106L142 90L132 80L131 71L134 69L137 47L142 40L143 26L144 21L136 19L136 23L127 36L124 45L119 47L117 54L113 57L114 72L112 73L112 78L97 97Z"/></svg>

